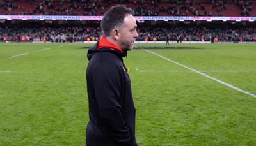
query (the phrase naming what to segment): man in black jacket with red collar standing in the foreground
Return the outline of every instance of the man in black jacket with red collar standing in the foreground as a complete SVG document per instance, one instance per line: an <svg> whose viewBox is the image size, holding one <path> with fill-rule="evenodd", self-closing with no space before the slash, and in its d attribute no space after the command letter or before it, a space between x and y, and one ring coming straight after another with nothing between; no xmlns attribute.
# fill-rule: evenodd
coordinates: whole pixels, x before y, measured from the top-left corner
<svg viewBox="0 0 256 146"><path fill-rule="evenodd" d="M111 7L100 24L104 34L88 50L88 146L137 145L131 82L122 59L138 38L132 15L131 8Z"/></svg>

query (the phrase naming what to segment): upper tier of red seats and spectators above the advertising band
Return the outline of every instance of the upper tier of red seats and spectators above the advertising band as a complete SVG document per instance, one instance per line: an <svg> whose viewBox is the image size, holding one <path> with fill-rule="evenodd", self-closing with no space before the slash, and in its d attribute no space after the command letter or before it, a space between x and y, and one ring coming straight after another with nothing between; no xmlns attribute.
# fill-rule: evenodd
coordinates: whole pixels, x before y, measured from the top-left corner
<svg viewBox="0 0 256 146"><path fill-rule="evenodd" d="M113 4L126 4L137 16L220 16L228 15L229 7L240 11L238 15L230 11L229 15L256 14L256 2L250 0L3 0L0 15L103 15Z"/></svg>

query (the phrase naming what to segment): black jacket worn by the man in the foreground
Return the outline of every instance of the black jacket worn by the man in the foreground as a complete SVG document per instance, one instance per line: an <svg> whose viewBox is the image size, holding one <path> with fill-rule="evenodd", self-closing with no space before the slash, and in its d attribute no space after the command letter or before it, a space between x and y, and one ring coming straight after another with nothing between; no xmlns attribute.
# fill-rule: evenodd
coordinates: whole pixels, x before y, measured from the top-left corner
<svg viewBox="0 0 256 146"><path fill-rule="evenodd" d="M88 50L88 146L137 145L131 82L122 59L126 55L106 47L97 50L97 44Z"/></svg>

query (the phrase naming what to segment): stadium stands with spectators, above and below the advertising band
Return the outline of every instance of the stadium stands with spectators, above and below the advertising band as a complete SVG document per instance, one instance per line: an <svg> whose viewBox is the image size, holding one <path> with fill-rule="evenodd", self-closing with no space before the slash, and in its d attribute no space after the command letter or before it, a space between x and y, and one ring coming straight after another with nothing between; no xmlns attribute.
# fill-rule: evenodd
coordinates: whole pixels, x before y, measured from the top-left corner
<svg viewBox="0 0 256 146"><path fill-rule="evenodd" d="M256 2L246 0L202 1L100 1L100 0L4 0L0 15L102 15L110 6L126 4L137 16L256 16ZM17 25L19 24L19 25ZM84 25L86 24L86 25ZM0 41L97 41L102 32L98 21L1 20ZM138 23L137 41L256 41L255 22L150 22ZM64 37L64 38L63 38Z"/></svg>

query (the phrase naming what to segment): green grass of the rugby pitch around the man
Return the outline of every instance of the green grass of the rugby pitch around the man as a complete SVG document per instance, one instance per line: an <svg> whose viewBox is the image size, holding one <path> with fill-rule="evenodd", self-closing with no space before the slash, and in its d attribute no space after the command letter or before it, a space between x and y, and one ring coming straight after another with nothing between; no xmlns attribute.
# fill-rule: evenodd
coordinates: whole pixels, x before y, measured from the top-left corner
<svg viewBox="0 0 256 146"><path fill-rule="evenodd" d="M0 43L0 145L85 145L88 61L80 48L91 45ZM170 46L203 49L134 49L124 58L138 145L256 145L256 98L179 65L256 95L256 45Z"/></svg>

